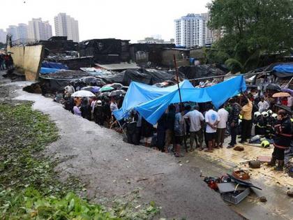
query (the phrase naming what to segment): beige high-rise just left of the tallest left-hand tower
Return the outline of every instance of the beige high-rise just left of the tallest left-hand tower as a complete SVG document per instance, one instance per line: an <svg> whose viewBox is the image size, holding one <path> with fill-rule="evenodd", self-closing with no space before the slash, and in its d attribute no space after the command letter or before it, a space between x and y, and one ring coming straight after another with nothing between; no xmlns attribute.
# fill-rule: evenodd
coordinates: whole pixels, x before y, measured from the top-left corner
<svg viewBox="0 0 293 220"><path fill-rule="evenodd" d="M52 26L48 21L43 22L41 18L33 18L29 21L28 36L32 40L46 41L52 37Z"/></svg>

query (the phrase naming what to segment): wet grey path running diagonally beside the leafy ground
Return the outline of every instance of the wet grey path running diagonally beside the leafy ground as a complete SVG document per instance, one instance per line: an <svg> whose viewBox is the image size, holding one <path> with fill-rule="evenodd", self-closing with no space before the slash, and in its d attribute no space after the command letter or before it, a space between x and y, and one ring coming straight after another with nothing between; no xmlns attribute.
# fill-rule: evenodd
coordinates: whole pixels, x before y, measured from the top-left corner
<svg viewBox="0 0 293 220"><path fill-rule="evenodd" d="M80 177L92 200L122 197L139 189L141 203L153 200L162 207L156 218L243 219L206 186L200 169L187 166L184 158L179 163L170 155L128 145L118 133L70 114L50 98L21 90L17 94L17 99L34 101L33 108L57 123L61 138L48 150L61 160L61 176Z"/></svg>

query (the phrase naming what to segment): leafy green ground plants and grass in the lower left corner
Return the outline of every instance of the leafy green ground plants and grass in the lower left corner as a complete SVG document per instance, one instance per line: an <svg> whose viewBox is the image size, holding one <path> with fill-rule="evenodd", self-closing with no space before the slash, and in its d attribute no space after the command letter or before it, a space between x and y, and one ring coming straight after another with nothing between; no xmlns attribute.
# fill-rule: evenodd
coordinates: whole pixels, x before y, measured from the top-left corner
<svg viewBox="0 0 293 220"><path fill-rule="evenodd" d="M61 182L57 161L43 154L58 138L57 126L31 103L0 103L0 219L151 219L158 213L153 202L136 210L137 191L107 209L77 196L84 186L75 177Z"/></svg>

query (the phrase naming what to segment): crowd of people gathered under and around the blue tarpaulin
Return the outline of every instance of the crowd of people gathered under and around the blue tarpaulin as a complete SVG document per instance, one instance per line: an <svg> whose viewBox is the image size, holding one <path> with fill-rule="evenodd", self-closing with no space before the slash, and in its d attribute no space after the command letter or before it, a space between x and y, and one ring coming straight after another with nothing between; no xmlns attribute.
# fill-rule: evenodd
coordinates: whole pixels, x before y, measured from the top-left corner
<svg viewBox="0 0 293 220"><path fill-rule="evenodd" d="M195 149L212 153L225 145L227 148L239 143L258 142L273 144L274 151L270 166L278 165L283 170L285 150L292 145L292 96L272 98L272 92L250 91L234 96L216 110L212 103L172 104L160 117L156 126L149 124L140 114L132 110L129 117L115 121L112 112L121 108L123 97L71 97L76 88L65 87L64 106L73 114L93 120L96 124L126 131L127 141L134 145L144 144L161 152L174 152L183 156L182 149L193 152ZM287 108L277 109L276 104ZM264 144L264 147L267 147ZM291 146L292 147L292 146ZM292 150L292 148L290 149Z"/></svg>

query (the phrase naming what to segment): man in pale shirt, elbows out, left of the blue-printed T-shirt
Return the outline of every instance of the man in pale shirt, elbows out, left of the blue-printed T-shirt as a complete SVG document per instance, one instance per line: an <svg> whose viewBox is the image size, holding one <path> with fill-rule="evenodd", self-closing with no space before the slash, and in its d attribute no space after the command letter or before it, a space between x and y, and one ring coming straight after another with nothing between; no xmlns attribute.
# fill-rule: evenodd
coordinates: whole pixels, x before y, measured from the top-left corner
<svg viewBox="0 0 293 220"><path fill-rule="evenodd" d="M198 107L195 107L193 111L187 112L186 115L184 115L185 119L189 119L190 121L190 152L192 152L193 149L193 142L195 140L197 145L197 140L199 142L199 145L197 147L200 147L200 150L202 150L202 140L203 140L203 134L202 134L202 122L204 121L204 115L202 115L201 112L197 110Z"/></svg>

